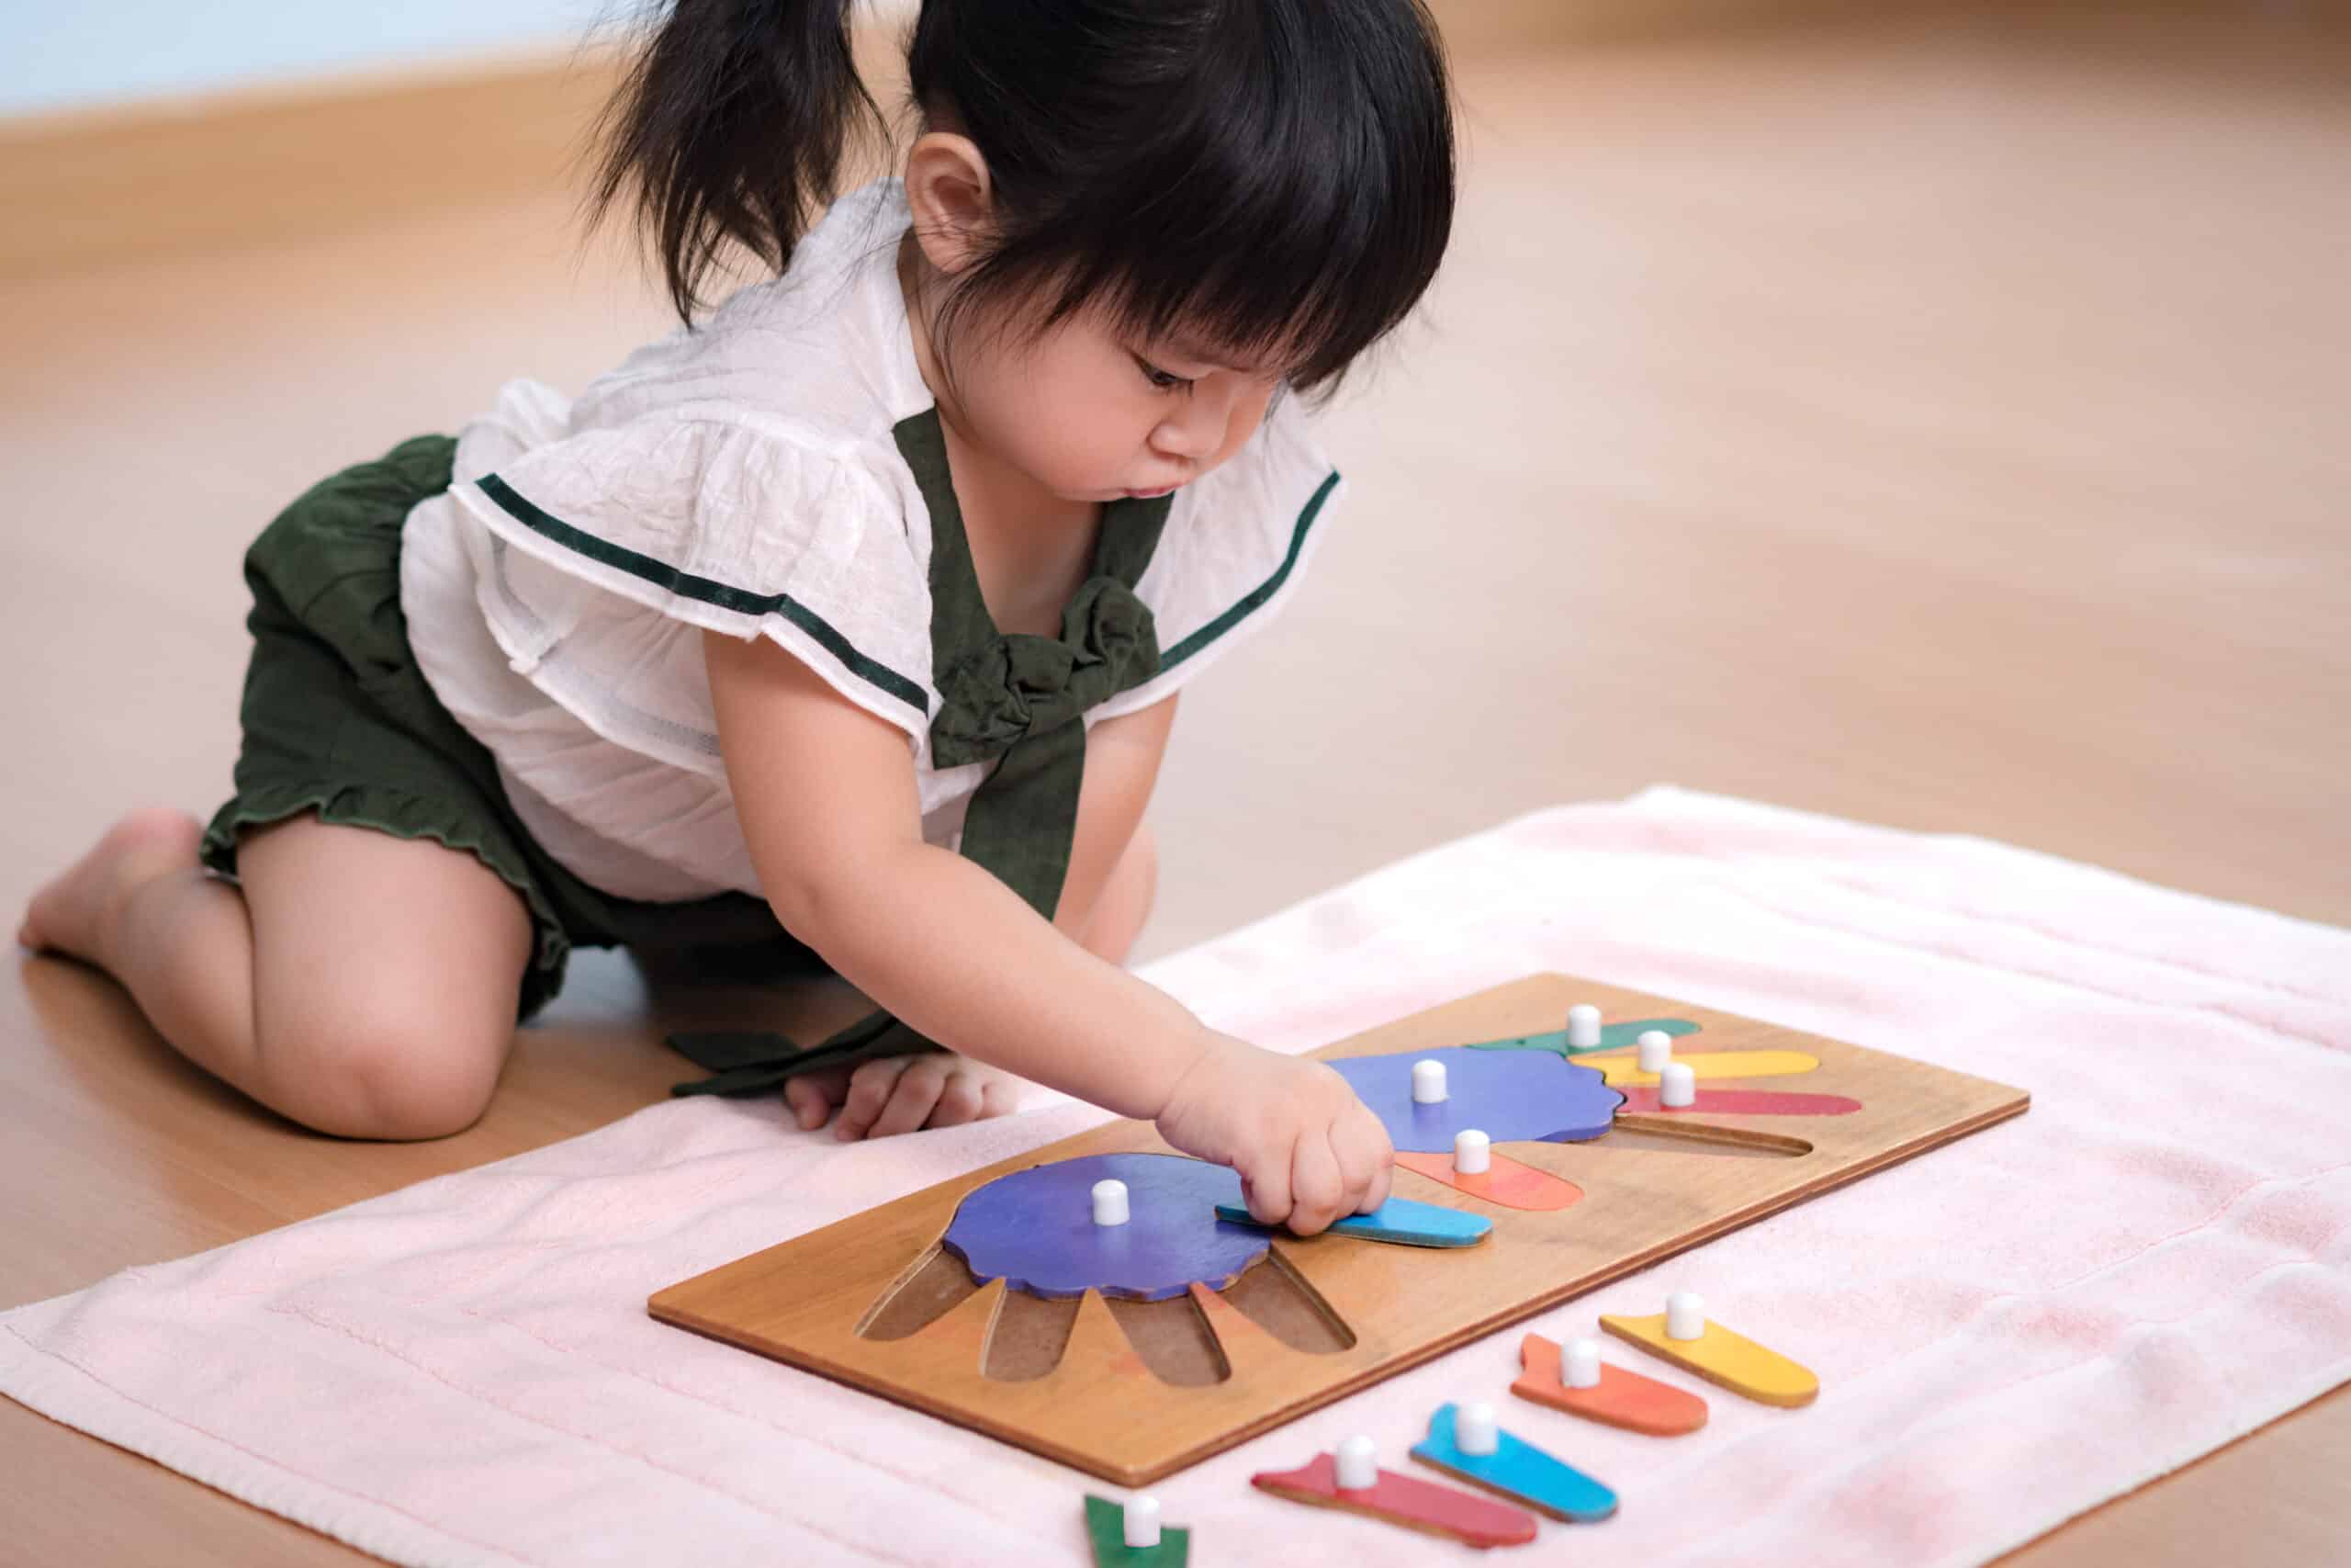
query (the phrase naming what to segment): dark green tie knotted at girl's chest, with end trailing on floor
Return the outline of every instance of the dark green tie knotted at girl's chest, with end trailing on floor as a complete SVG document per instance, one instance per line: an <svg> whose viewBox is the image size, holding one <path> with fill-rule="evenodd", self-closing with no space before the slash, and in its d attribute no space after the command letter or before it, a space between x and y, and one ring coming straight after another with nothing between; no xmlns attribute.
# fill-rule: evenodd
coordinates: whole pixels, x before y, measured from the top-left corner
<svg viewBox="0 0 2351 1568"><path fill-rule="evenodd" d="M1112 501L1093 571L1060 616L1060 637L997 630L971 562L938 409L891 430L931 512L931 715L936 766L997 762L964 813L964 858L990 870L1046 919L1060 905L1086 778L1086 710L1159 672L1159 630L1136 583L1159 548L1168 496ZM672 1034L670 1046L715 1077L670 1093L759 1093L790 1074L933 1048L889 1013L870 1013L809 1051L783 1034Z"/></svg>

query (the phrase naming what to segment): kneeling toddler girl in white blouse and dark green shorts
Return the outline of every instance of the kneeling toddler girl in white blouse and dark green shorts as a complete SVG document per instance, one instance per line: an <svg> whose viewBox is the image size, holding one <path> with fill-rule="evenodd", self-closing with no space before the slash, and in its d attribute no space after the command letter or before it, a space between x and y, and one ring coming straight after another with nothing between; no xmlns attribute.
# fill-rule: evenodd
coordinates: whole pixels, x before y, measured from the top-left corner
<svg viewBox="0 0 2351 1568"><path fill-rule="evenodd" d="M353 1138L480 1117L576 943L797 943L945 1046L795 1077L806 1128L990 1114L1002 1070L1232 1164L1260 1220L1375 1206L1338 1074L1119 961L1178 691L1331 520L1293 393L1444 254L1434 26L926 0L907 71L903 179L802 233L879 120L844 0L672 0L600 209L635 195L686 327L287 508L235 797L118 823L21 940ZM738 252L773 275L698 320Z"/></svg>

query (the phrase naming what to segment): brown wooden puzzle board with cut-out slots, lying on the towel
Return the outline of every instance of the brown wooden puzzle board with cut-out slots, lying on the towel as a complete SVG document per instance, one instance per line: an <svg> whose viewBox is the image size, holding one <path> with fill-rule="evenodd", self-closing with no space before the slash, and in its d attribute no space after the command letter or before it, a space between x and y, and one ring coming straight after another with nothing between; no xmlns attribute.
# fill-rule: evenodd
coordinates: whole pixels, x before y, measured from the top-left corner
<svg viewBox="0 0 2351 1568"><path fill-rule="evenodd" d="M1279 1237L1218 1295L1044 1302L973 1288L938 1248L966 1192L1077 1154L1168 1152L1150 1124L1091 1133L926 1187L656 1293L649 1309L731 1345L882 1394L1121 1486L1143 1486L1829 1187L2020 1114L2029 1095L1815 1034L1566 976L1533 976L1314 1056L1385 1056L1556 1030L1573 1001L1606 1018L1700 1025L1676 1053L1806 1051L1820 1070L1770 1088L1850 1095L1843 1117L1704 1117L1768 1128L1803 1154L1617 1128L1594 1143L1509 1143L1582 1201L1500 1208L1396 1171L1396 1197L1493 1218L1479 1246L1429 1251ZM1707 1088L1709 1084L1700 1084ZM1646 1117L1655 1124L1655 1117ZM936 1321L926 1321L929 1316ZM915 1328L915 1324L924 1324Z"/></svg>

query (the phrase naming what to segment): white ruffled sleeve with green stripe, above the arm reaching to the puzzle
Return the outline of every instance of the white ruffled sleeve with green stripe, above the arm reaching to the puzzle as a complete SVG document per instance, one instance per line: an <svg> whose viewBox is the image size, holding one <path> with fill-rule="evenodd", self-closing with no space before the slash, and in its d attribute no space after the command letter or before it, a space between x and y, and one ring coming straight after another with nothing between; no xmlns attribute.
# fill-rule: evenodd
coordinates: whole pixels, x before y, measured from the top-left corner
<svg viewBox="0 0 2351 1568"><path fill-rule="evenodd" d="M484 611L517 670L571 649L614 684L632 642L684 661L675 637L642 625L658 611L672 630L783 644L919 745L929 581L900 505L856 454L668 411L496 456L473 475L461 461L451 494L498 545Z"/></svg>

